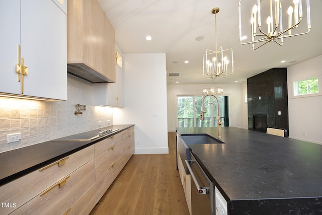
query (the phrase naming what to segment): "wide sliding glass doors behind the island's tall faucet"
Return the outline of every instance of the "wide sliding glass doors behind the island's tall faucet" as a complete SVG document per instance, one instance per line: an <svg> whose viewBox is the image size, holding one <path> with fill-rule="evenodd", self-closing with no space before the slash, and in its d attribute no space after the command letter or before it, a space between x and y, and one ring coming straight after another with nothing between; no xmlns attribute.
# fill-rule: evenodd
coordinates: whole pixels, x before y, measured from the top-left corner
<svg viewBox="0 0 322 215"><path fill-rule="evenodd" d="M220 104L222 126L229 125L228 96L217 96ZM204 120L200 120L202 96L178 96L178 127L216 127L217 101L212 96L204 99Z"/></svg>

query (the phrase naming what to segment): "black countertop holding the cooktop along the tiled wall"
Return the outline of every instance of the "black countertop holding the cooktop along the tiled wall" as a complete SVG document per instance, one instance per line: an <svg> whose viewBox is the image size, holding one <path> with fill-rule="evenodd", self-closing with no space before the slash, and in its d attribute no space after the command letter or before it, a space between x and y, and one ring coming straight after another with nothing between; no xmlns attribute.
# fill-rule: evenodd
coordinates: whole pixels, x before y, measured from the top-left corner
<svg viewBox="0 0 322 215"><path fill-rule="evenodd" d="M100 130L118 129L93 140L83 141L46 141L40 144L0 153L0 186L24 176L32 171L42 168L52 162L58 161L72 153L95 144L134 125L111 125L104 128L71 135L73 138L92 135Z"/></svg>

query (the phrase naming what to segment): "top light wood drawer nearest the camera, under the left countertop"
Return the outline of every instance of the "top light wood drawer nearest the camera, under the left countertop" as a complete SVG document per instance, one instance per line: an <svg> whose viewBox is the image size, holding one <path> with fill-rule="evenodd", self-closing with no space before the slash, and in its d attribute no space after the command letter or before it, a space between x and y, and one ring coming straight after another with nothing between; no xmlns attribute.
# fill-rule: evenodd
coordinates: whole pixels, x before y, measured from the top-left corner
<svg viewBox="0 0 322 215"><path fill-rule="evenodd" d="M18 208L93 158L94 146L91 146L65 157L65 160L59 160L61 161L60 166L59 163L54 162L5 184L0 187L0 201L16 203ZM13 207L3 207L1 213L7 214L15 209Z"/></svg>

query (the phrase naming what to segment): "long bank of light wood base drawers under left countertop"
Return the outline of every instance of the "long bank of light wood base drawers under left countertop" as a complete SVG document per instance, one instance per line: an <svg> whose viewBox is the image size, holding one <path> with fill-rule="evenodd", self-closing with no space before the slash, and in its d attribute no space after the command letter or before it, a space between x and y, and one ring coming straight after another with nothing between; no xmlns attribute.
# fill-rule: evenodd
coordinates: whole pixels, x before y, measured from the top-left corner
<svg viewBox="0 0 322 215"><path fill-rule="evenodd" d="M1 214L88 214L134 154L134 126L0 187Z"/></svg>

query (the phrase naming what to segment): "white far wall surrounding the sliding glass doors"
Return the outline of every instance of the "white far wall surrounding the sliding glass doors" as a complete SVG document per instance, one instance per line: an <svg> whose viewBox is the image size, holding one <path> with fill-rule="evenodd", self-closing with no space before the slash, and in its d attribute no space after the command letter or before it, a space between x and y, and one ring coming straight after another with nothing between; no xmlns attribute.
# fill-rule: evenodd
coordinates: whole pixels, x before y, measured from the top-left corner
<svg viewBox="0 0 322 215"><path fill-rule="evenodd" d="M222 87L223 94L229 97L229 126L248 129L247 103L245 93L247 84L218 84L218 85L168 85L168 131L175 131L177 124L177 96L202 95L202 90L209 87ZM245 87L246 86L246 87ZM245 90L246 88L246 90ZM245 108L246 107L246 108ZM246 111L246 112L245 112Z"/></svg>

